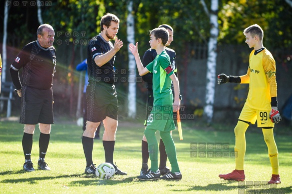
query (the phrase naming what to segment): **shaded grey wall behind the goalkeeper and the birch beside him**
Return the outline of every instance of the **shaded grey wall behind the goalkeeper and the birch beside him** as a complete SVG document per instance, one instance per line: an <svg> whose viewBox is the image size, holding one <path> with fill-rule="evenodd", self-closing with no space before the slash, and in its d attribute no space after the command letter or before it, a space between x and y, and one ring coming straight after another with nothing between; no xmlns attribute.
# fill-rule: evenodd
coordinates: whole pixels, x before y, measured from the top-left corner
<svg viewBox="0 0 292 194"><path fill-rule="evenodd" d="M216 75L243 75L247 72L248 58L251 49L247 46L221 45L218 46ZM285 100L292 94L292 63L284 60L285 55L277 55L276 51L270 50L276 60L276 80L278 107L281 109ZM190 53L192 50L190 50ZM191 54L190 54L191 55ZM182 63L182 62L181 62ZM206 57L190 57L185 65L179 66L179 80L182 103L188 112L202 109L205 102L206 85ZM214 117L213 120L226 118L237 119L243 104L245 103L249 84L217 84L215 86Z"/></svg>

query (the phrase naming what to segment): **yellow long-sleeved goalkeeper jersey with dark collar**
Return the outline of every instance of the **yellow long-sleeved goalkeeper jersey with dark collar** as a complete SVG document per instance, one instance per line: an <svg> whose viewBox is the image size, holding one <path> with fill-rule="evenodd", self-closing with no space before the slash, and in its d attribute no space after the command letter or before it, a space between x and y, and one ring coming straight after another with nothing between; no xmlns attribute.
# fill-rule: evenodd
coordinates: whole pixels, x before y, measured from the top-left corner
<svg viewBox="0 0 292 194"><path fill-rule="evenodd" d="M247 73L240 76L240 83L249 83L246 105L259 110L270 110L271 97L277 96L276 65L272 54L264 48L249 54Z"/></svg>

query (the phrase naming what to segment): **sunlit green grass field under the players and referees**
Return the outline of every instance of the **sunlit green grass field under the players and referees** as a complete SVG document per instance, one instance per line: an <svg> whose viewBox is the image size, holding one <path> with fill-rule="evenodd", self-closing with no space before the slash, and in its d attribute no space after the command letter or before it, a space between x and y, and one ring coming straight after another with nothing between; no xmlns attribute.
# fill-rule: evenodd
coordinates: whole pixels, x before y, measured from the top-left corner
<svg viewBox="0 0 292 194"><path fill-rule="evenodd" d="M233 126L234 127L234 126ZM144 127L130 121L120 121L115 144L114 161L128 172L126 176L115 176L112 180L100 180L85 175L85 157L81 143L81 127L75 123L53 124L46 162L51 171L22 170L24 155L22 149L23 125L17 121L2 121L0 124L0 187L1 193L291 193L292 142L291 136L276 135L279 152L281 184L267 185L271 167L267 147L262 134L247 132L245 155L245 181L224 181L219 173L234 169L234 158L191 157L194 143L230 143L234 147L233 128L228 131L202 130L183 125L181 141L178 132L173 132L177 157L182 171L181 181L140 181L136 177L141 168L141 138ZM260 130L260 129L259 129ZM101 133L103 132L103 128ZM40 131L36 130L32 160L37 165L39 158ZM217 151L211 149L211 151ZM200 150L206 151L206 150ZM229 149L227 150L229 151ZM104 162L102 140L95 140L94 162ZM150 164L150 161L149 161ZM168 166L170 166L168 162ZM262 185L257 184L262 181ZM265 182L264 182L265 181ZM243 185L242 185L243 184ZM248 186L249 185L249 186Z"/></svg>

